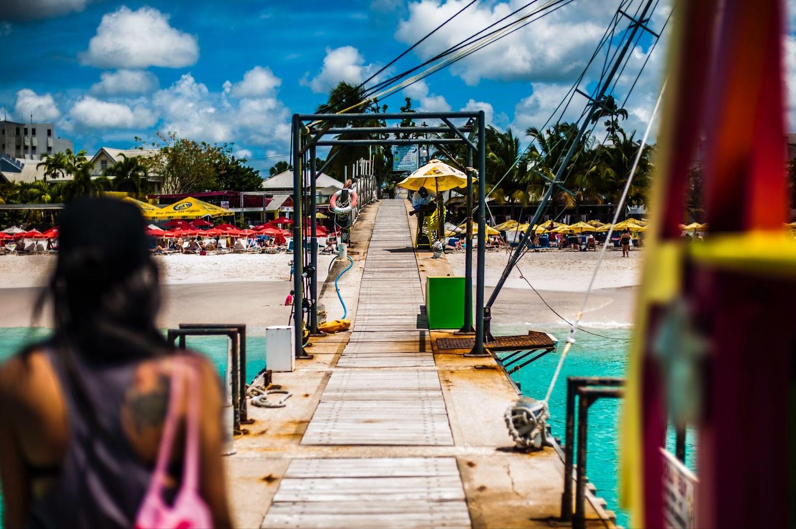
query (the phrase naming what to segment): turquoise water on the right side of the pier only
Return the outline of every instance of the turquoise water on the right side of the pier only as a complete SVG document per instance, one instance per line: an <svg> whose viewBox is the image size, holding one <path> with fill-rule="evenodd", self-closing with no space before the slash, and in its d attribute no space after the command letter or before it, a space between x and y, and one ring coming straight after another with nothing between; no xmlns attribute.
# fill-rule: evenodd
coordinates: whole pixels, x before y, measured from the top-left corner
<svg viewBox="0 0 796 529"><path fill-rule="evenodd" d="M495 334L525 334L525 326L495 326ZM559 350L564 348L568 328L540 329L553 334L560 340ZM568 376L625 376L627 353L630 338L627 329L593 330L608 338L599 338L583 332L577 334L576 343L570 349L561 374L550 396L550 420L552 434L564 442L564 422L566 421L567 377ZM524 395L544 399L548 385L556 370L559 355L548 354L513 374L520 383ZM628 513L618 506L618 421L621 401L601 399L589 408L587 475L597 487L597 495L603 497L608 508L615 511L617 523L629 527ZM686 433L685 460L690 469L696 469L694 432ZM674 453L674 432L670 428L667 448Z"/></svg>

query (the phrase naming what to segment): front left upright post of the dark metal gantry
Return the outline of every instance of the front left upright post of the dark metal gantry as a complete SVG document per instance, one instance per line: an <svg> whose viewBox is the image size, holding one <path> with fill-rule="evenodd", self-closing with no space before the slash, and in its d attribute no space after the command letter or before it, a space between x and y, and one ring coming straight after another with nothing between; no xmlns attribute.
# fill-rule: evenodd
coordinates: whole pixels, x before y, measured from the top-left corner
<svg viewBox="0 0 796 529"><path fill-rule="evenodd" d="M304 306L304 293L302 292L302 272L303 272L303 236L302 236L302 181L301 181L301 127L302 122L298 119L298 114L293 114L293 326L295 345L295 357L304 355L302 342L304 340L302 322Z"/></svg>

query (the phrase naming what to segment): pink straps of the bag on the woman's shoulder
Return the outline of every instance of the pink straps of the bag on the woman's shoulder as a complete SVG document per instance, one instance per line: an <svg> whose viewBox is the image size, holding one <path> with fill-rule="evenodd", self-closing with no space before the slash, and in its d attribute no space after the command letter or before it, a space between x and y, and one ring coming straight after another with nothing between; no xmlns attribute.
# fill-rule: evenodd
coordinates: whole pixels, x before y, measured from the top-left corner
<svg viewBox="0 0 796 529"><path fill-rule="evenodd" d="M186 369L187 368L187 369ZM174 435L177 432L179 407L182 400L182 378L190 387L197 387L196 370L193 365L175 358L171 372L169 408L166 412L166 422L163 424L163 434L158 449L158 461L150 481L150 489L157 491L158 496L162 491L166 477L166 466L171 459L171 450L174 445ZM196 491L199 488L199 403L196 398L189 398L185 411L185 458L183 461L181 489L187 488Z"/></svg>

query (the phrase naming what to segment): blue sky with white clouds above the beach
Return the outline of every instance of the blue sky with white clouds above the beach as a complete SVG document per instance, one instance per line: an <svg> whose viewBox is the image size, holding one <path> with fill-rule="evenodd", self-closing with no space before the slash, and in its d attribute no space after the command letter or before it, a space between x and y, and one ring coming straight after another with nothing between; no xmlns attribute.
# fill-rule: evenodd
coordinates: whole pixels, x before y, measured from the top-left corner
<svg viewBox="0 0 796 529"><path fill-rule="evenodd" d="M289 150L291 114L314 110L338 80L365 79L467 2L3 3L0 103L10 117L24 114L27 121L33 111L34 121L56 122L60 136L90 152L129 147L135 136L157 140L167 131L234 142L253 167L267 171ZM389 71L411 68L525 3L479 0ZM668 3L658 7L654 27L669 14ZM405 92L422 110L483 109L515 133L541 126L616 6L618 0L575 0ZM639 134L657 97L664 50L661 41L626 104L627 128ZM649 52L645 37L618 95ZM384 102L398 110L403 97ZM583 102L573 102L571 114Z"/></svg>

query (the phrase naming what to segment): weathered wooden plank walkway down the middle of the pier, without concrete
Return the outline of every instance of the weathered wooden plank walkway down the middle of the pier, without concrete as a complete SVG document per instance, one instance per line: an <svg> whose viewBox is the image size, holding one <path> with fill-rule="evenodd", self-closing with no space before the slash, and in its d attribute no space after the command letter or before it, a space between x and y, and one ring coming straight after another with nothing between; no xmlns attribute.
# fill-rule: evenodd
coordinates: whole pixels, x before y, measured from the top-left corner
<svg viewBox="0 0 796 529"><path fill-rule="evenodd" d="M411 245L403 201L385 200L353 332L302 445L453 446ZM470 527L470 515L455 458L294 459L263 527Z"/></svg>

